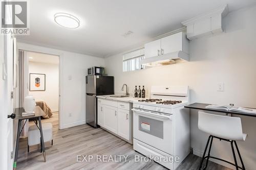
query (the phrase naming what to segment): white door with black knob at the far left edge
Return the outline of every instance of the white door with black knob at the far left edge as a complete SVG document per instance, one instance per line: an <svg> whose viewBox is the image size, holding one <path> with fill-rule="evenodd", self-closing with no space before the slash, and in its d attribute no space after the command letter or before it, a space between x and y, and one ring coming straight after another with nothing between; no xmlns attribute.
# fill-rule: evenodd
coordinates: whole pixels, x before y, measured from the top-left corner
<svg viewBox="0 0 256 170"><path fill-rule="evenodd" d="M13 38L0 35L0 169L13 168Z"/></svg>

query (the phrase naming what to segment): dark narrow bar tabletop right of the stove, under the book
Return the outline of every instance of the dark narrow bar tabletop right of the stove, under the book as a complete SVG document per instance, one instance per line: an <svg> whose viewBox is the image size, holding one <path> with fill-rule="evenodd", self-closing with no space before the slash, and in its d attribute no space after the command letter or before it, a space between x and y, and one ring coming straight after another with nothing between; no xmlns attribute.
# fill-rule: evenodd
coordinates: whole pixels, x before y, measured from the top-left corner
<svg viewBox="0 0 256 170"><path fill-rule="evenodd" d="M197 109L197 110L205 110L205 111L211 111L211 112L221 112L226 114L237 114L242 116L251 116L256 117L256 114L254 113L246 113L246 112L236 112L236 111L227 111L227 110L220 110L220 109L211 109L211 108L205 108L205 106L208 106L210 104L207 103L193 103L190 105L184 106L185 108L189 109Z"/></svg>

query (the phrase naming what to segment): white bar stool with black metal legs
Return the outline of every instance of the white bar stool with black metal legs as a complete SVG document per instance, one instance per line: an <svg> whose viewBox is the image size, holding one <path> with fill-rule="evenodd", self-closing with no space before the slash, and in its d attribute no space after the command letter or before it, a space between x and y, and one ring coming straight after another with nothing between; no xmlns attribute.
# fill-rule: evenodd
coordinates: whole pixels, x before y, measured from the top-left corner
<svg viewBox="0 0 256 170"><path fill-rule="evenodd" d="M247 134L243 133L242 130L242 123L240 117L229 117L229 116L222 116L222 115L216 115L216 114L209 114L199 111L198 112L198 128L201 131L204 131L210 136L208 137L206 147L204 150L204 154L202 157L202 160L200 162L199 170L206 169L208 165L209 158L212 159L218 159L221 161L224 161L226 163L229 163L231 165L236 166L236 169L244 169L245 166L241 157L241 154L238 149L238 145L236 141L245 141ZM212 157L210 156L210 150L212 145L213 138L217 138L220 140L228 141L231 144L231 149L233 153L234 163L228 162L226 160ZM210 142L210 145L209 145ZM236 145L236 149L242 164L242 167L238 166L237 159L236 159L236 153L234 152L233 143ZM207 148L209 145L208 155L205 156ZM202 164L204 159L206 160L205 166L202 168Z"/></svg>

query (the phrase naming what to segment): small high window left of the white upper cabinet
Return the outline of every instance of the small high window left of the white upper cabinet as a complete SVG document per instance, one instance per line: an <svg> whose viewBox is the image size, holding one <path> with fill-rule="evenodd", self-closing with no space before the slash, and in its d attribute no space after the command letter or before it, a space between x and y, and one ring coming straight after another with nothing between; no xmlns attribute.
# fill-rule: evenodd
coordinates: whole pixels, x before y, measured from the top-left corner
<svg viewBox="0 0 256 170"><path fill-rule="evenodd" d="M144 69L144 65L140 65L140 60L142 59L144 59L144 48L124 54L123 71Z"/></svg>

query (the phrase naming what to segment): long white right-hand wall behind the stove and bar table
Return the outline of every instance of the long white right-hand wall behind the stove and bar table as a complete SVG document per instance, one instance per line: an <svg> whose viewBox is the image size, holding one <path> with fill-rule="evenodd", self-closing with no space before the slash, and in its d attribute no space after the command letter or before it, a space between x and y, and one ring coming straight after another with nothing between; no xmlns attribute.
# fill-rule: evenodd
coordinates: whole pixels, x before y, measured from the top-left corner
<svg viewBox="0 0 256 170"><path fill-rule="evenodd" d="M106 58L109 75L115 77L115 92L123 83L145 85L188 85L190 102L229 104L256 108L256 6L229 13L225 32L190 41L190 62L122 72L122 54ZM217 83L224 83L224 92ZM190 111L191 147L202 154L208 135L198 129L198 113ZM256 117L241 116L245 142L238 142L246 169L256 167ZM228 127L227 127L228 128ZM215 140L212 155L233 161L230 145ZM198 151L198 152L196 152ZM232 166L231 166L232 167Z"/></svg>

